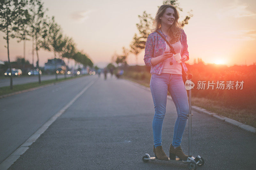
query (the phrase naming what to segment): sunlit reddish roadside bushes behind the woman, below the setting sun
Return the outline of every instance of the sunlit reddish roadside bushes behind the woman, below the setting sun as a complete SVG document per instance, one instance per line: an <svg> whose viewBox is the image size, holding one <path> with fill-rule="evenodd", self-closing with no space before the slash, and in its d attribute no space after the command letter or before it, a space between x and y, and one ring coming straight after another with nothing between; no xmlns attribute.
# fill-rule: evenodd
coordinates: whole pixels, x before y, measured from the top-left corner
<svg viewBox="0 0 256 170"><path fill-rule="evenodd" d="M238 109L256 109L256 65L227 67L225 65L196 63L186 64L188 74L193 74L192 82L195 87L192 90L194 97L203 97L211 100L221 101L225 107ZM149 70L148 70L149 69ZM151 74L150 67L129 66L125 73L126 77L149 82ZM198 81L206 81L204 89L197 89ZM208 81L215 83L214 88L207 89ZM224 81L224 89L218 89L217 81ZM226 89L227 81L234 81L234 89ZM244 81L243 89L236 90L236 81Z"/></svg>

